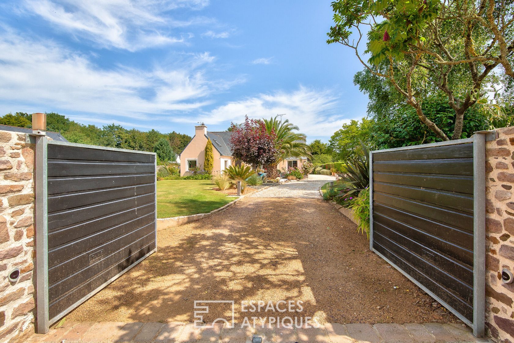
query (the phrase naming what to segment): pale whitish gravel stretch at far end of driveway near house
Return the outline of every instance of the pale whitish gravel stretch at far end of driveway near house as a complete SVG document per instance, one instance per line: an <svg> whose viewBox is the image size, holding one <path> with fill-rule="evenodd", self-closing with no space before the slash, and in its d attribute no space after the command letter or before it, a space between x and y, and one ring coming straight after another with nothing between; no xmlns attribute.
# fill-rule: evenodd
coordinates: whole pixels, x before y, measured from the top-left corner
<svg viewBox="0 0 514 343"><path fill-rule="evenodd" d="M309 178L291 181L279 186L273 186L262 192L251 195L252 197L305 197L320 198L319 188L329 181L334 181L334 176L309 175Z"/></svg>

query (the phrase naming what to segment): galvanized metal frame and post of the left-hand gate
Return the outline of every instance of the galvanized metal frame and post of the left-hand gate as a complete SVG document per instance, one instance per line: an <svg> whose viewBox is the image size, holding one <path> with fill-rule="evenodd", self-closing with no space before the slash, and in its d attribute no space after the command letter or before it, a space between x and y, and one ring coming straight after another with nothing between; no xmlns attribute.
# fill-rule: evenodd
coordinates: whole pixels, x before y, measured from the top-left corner
<svg viewBox="0 0 514 343"><path fill-rule="evenodd" d="M47 161L48 161L48 145L61 145L61 146L72 146L79 148L88 148L88 149L98 149L98 150L110 150L110 151L121 151L121 152L132 152L138 154L150 154L155 155L154 152L146 152L146 151L136 151L136 150L128 150L128 149L118 149L118 148L107 148L107 147L99 147L99 146L90 146L79 143L71 143L71 142L61 142L48 140L47 136L32 136L27 137L29 142L33 142L32 137L35 137L35 173L34 173L34 183L35 183L35 248L36 248L36 305L37 305L37 316L36 316L36 331L38 333L47 333L49 327L54 322L61 319L68 312L75 309L78 305L80 305L85 300L89 299L103 287L108 285L109 283L116 280L122 274L127 272L129 269L137 265L139 262L144 260L146 257L152 255L155 251L157 251L157 246L155 249L148 252L148 254L144 255L136 262L122 270L120 273L107 280L105 283L100 285L96 290L90 292L85 297L75 302L69 308L58 314L53 318L49 318L48 313L48 173L47 173ZM157 158L155 159L155 170L157 170ZM157 173L155 178L155 218L157 219ZM155 241L157 242L157 220L155 221Z"/></svg>

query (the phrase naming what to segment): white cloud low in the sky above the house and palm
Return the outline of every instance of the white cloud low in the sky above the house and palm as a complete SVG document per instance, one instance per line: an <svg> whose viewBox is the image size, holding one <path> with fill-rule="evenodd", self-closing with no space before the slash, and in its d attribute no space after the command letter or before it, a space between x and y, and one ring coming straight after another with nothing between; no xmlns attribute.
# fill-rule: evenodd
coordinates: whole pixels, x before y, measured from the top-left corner
<svg viewBox="0 0 514 343"><path fill-rule="evenodd" d="M283 119L298 125L308 136L331 136L350 119L334 114L337 97L329 91L316 91L300 86L293 92L260 94L241 101L229 102L200 117L207 125L227 121L242 122L249 118L270 118L285 113Z"/></svg>

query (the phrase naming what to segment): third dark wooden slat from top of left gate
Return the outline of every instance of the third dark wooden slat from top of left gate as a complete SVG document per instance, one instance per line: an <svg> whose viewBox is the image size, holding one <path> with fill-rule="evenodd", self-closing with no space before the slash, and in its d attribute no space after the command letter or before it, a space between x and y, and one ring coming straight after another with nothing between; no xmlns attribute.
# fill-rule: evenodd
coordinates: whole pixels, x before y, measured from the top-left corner
<svg viewBox="0 0 514 343"><path fill-rule="evenodd" d="M48 195L95 190L108 187L137 186L155 182L155 174L49 177Z"/></svg>

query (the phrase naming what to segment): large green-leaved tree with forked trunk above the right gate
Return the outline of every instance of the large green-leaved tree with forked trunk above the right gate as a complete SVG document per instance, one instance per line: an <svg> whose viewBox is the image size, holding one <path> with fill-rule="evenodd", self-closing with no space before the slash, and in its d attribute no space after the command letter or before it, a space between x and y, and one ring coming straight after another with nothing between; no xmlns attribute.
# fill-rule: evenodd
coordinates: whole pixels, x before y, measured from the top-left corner
<svg viewBox="0 0 514 343"><path fill-rule="evenodd" d="M455 111L451 138L458 139L476 102L470 91L498 82L491 71L500 65L514 77L512 0L337 0L332 8L327 43L352 48L369 74L386 79L440 139L450 137L423 112L425 98L447 97Z"/></svg>

